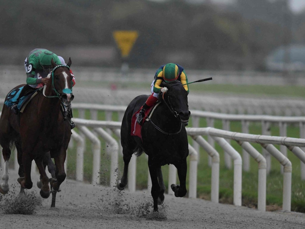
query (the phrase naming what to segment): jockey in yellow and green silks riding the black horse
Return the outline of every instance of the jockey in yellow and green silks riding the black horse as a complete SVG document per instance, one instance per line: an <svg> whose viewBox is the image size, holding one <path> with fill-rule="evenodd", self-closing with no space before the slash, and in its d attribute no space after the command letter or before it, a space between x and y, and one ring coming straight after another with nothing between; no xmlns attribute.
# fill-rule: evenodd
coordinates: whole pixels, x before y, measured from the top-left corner
<svg viewBox="0 0 305 229"><path fill-rule="evenodd" d="M179 80L182 84L188 83L188 78L185 74L184 68L179 64L164 64L158 68L156 71L154 80L151 84L151 95L148 97L146 102L144 103L138 117L137 122L142 125L142 119L144 118L144 113L149 107L152 107L159 98L159 93L167 92L166 87L161 87L161 83L165 81L166 83L170 83L174 80ZM184 89L189 93L188 85L183 85Z"/></svg>

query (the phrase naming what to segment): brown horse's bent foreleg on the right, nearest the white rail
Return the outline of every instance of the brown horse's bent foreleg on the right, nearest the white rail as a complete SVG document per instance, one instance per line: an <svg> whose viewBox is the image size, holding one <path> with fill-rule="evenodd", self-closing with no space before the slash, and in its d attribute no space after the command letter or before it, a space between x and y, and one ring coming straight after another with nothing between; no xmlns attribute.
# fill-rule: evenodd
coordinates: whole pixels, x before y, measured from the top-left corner
<svg viewBox="0 0 305 229"><path fill-rule="evenodd" d="M54 161L55 161L55 166L56 166L56 179L51 178L50 179L50 184L52 185L53 189L55 191L59 190L59 186L61 183L63 183L63 181L66 179L66 173L65 173L65 163L66 160L66 151L61 149L61 151L56 154L56 156L54 157Z"/></svg>

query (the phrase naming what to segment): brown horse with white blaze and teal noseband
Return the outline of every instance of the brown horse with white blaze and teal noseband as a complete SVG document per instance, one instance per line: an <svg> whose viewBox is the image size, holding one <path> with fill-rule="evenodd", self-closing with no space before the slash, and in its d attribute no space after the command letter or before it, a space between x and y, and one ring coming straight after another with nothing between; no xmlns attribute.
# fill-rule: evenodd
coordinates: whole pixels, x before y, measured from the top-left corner
<svg viewBox="0 0 305 229"><path fill-rule="evenodd" d="M31 181L31 164L34 160L41 177L42 187L40 195L48 198L51 188L59 190L60 184L65 180L66 173L64 162L66 150L71 137L70 124L63 118L61 104L68 107L74 98L72 94L72 76L70 74L71 59L67 65L53 66L52 77L45 85L43 93L36 95L20 113L20 125L18 115L7 107L3 106L0 118L0 144L5 161L4 173L0 192L6 194L9 191L8 185L8 161L11 154L11 147L15 143L18 152L19 178L18 182L23 188L30 189L33 186ZM20 85L15 87L20 88ZM45 172L43 158L50 151L56 165L56 179L49 180Z"/></svg>

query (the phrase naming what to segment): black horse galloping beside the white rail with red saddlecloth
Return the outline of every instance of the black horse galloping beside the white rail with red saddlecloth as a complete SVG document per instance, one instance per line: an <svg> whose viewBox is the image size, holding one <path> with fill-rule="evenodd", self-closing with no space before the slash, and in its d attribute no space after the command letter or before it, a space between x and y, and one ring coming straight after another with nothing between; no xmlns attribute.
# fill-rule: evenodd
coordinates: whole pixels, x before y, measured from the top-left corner
<svg viewBox="0 0 305 229"><path fill-rule="evenodd" d="M142 140L138 136L131 136L132 115L140 109L148 96L137 96L128 105L121 127L121 144L123 147L124 171L117 188L123 190L127 185L128 164L133 153L140 156L144 151L148 155L148 167L152 180L151 194L153 210L158 211L158 204L164 200L165 186L163 184L161 166L173 164L178 170L179 184L172 184L171 188L176 197L185 196L185 186L188 156L188 139L184 123L188 122L187 91L180 81L171 84L163 82L167 93L164 100L156 107L151 120L142 126Z"/></svg>

